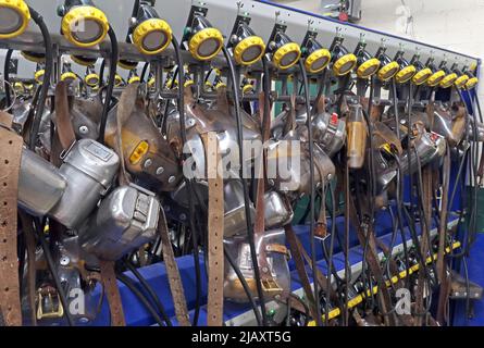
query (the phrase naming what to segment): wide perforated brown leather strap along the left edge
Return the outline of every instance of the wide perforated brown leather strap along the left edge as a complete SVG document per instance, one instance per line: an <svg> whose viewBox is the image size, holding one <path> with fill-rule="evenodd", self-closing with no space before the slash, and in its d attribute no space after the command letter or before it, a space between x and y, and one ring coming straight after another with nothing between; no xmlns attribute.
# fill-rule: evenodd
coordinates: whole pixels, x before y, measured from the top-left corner
<svg viewBox="0 0 484 348"><path fill-rule="evenodd" d="M17 259L17 194L23 139L0 125L0 316L22 325Z"/></svg>

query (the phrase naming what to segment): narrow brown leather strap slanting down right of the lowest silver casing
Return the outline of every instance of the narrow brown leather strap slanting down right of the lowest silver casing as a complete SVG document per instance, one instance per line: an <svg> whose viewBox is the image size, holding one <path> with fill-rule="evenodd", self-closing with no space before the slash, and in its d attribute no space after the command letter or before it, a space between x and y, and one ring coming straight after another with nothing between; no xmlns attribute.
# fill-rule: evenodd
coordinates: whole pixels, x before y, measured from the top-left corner
<svg viewBox="0 0 484 348"><path fill-rule="evenodd" d="M190 326L188 309L183 289L182 278L179 276L178 265L175 261L172 244L170 241L170 233L166 225L166 216L164 211L160 210L160 220L158 222L158 231L161 238L161 251L169 277L170 291L172 293L173 306L175 307L176 320L179 326Z"/></svg>

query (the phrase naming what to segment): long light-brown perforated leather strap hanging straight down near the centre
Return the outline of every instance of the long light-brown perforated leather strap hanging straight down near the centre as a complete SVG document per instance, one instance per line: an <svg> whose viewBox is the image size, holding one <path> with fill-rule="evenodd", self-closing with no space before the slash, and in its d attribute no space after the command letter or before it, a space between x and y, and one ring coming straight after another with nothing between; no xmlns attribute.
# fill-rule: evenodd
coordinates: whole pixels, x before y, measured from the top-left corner
<svg viewBox="0 0 484 348"><path fill-rule="evenodd" d="M208 275L209 293L207 302L207 324L223 324L223 281L224 281L224 192L223 178L219 173L221 154L215 132L201 135L206 150L207 176L209 183L209 217L208 217Z"/></svg>

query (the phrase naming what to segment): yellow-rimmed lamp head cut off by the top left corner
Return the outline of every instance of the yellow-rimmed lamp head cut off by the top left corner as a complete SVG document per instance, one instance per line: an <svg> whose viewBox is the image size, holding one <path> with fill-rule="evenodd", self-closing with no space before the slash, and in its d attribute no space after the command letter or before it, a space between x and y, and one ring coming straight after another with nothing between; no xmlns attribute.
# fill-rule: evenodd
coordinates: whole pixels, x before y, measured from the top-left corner
<svg viewBox="0 0 484 348"><path fill-rule="evenodd" d="M0 39L11 39L25 32L30 11L24 0L0 0Z"/></svg>

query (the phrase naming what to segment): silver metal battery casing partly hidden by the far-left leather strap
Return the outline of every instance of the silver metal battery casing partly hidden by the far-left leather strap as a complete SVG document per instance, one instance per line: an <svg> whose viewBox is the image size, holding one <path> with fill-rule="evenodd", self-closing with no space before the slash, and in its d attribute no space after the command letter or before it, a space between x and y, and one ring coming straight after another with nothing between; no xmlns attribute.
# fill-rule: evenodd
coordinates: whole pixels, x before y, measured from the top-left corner
<svg viewBox="0 0 484 348"><path fill-rule="evenodd" d="M47 214L61 199L67 183L58 167L37 153L22 150L18 206L34 215Z"/></svg>

